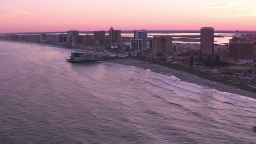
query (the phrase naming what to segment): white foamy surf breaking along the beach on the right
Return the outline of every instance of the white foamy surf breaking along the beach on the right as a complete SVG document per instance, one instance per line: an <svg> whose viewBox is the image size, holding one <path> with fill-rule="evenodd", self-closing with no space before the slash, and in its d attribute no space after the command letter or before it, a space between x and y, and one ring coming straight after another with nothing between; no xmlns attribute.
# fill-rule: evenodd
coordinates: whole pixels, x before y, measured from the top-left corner
<svg viewBox="0 0 256 144"><path fill-rule="evenodd" d="M163 91L169 89L176 94L185 95L185 96L210 96L216 99L224 99L224 101L240 101L244 103L251 103L255 104L256 99L251 97L242 96L234 93L228 92L221 92L217 91L216 89L209 88L207 86L197 85L194 83L188 83L185 81L180 80L179 78L175 77L174 75L169 74L162 74L152 72L149 69L141 69L137 67L129 67L122 64L113 64L115 67L121 67L123 70L129 70L136 73L140 73L140 75L144 75L145 81L149 81L150 83L162 87ZM150 80L151 79L151 80ZM150 89L149 89L150 90ZM159 91L159 89L157 89Z"/></svg>

